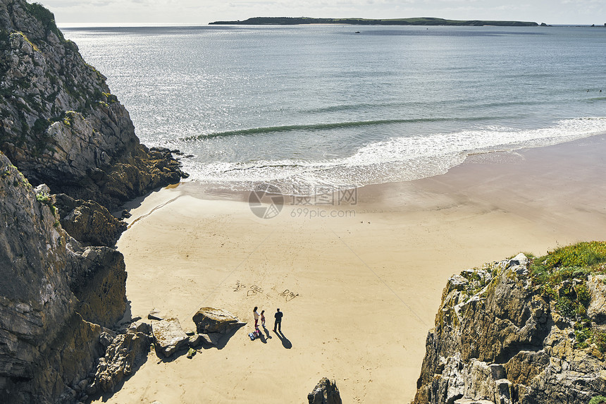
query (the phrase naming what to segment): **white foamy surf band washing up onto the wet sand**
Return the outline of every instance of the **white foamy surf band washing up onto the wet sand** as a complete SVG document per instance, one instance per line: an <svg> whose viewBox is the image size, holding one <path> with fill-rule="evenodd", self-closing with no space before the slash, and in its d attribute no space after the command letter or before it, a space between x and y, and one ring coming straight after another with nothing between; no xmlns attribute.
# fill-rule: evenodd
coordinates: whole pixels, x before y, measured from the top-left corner
<svg viewBox="0 0 606 404"><path fill-rule="evenodd" d="M415 180L445 173L469 154L540 147L606 133L606 118L572 118L550 128L478 130L393 137L361 147L350 157L323 161L296 159L242 163L184 161L192 180L219 188L250 190L272 183L285 192L313 193L323 187L361 186Z"/></svg>

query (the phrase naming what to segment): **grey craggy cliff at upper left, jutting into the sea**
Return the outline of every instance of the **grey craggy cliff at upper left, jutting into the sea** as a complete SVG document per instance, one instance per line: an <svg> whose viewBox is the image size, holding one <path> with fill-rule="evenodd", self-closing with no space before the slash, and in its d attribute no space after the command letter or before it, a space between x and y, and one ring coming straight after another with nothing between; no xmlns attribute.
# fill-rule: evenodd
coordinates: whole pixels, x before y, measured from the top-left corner
<svg viewBox="0 0 606 404"><path fill-rule="evenodd" d="M0 150L33 185L112 209L183 175L39 4L0 0L0 77Z"/></svg>

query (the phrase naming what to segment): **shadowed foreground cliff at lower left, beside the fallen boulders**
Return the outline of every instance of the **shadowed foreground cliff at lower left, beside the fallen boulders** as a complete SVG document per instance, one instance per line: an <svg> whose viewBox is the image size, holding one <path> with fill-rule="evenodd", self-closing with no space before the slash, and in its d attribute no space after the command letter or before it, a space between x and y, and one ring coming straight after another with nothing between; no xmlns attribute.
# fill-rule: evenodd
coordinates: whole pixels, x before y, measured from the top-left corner
<svg viewBox="0 0 606 404"><path fill-rule="evenodd" d="M0 401L70 403L125 312L122 255L86 247L0 153Z"/></svg>

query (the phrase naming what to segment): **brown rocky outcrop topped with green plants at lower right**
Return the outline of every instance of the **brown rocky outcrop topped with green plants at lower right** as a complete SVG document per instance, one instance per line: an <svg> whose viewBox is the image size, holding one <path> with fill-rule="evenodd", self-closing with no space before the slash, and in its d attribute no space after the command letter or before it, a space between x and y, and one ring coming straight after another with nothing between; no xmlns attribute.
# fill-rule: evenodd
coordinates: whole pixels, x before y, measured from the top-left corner
<svg viewBox="0 0 606 404"><path fill-rule="evenodd" d="M586 404L606 392L606 243L453 276L414 403Z"/></svg>

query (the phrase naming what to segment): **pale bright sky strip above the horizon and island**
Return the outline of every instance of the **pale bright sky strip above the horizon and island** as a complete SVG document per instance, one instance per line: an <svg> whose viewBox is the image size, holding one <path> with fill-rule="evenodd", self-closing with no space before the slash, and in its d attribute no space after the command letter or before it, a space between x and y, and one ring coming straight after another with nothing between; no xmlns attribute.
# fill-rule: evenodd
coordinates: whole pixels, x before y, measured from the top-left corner
<svg viewBox="0 0 606 404"><path fill-rule="evenodd" d="M32 2L32 0L29 0ZM519 20L606 23L605 0L36 0L59 26L206 25L251 17Z"/></svg>

